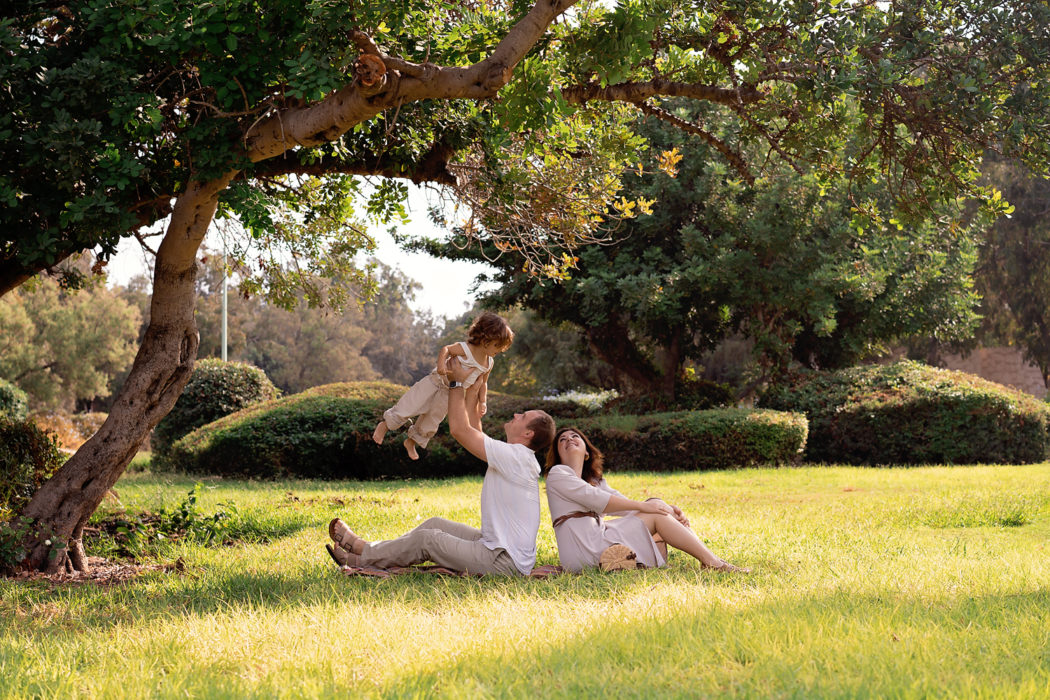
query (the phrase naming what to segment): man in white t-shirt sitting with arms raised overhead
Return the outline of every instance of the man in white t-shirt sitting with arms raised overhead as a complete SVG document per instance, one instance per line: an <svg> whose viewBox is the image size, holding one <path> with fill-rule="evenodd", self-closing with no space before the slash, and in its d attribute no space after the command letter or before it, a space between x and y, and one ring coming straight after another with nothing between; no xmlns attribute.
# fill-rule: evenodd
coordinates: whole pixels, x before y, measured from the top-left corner
<svg viewBox="0 0 1050 700"><path fill-rule="evenodd" d="M433 561L471 574L527 576L536 564L540 530L540 463L554 436L554 421L542 410L514 413L503 425L506 442L481 431L467 417L466 390L460 384L469 373L457 358L448 363L448 429L467 451L488 463L481 487L481 529L432 517L415 530L385 542L358 537L336 518L326 545L339 565L411 566Z"/></svg>

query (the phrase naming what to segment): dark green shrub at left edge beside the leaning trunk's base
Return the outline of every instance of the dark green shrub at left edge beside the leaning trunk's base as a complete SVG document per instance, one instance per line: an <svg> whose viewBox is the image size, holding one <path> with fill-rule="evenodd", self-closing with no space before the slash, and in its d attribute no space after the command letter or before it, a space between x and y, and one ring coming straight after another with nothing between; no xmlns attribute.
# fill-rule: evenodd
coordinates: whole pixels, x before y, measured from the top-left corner
<svg viewBox="0 0 1050 700"><path fill-rule="evenodd" d="M55 437L33 421L0 419L0 523L29 503L62 462Z"/></svg>

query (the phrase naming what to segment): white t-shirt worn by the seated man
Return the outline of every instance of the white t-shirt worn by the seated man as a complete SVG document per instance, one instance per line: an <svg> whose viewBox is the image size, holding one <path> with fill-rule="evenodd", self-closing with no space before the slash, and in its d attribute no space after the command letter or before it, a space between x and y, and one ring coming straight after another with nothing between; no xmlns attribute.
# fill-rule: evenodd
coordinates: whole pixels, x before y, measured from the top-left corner
<svg viewBox="0 0 1050 700"><path fill-rule="evenodd" d="M525 445L485 436L488 469L481 485L481 544L505 549L518 571L536 565L540 531L540 463Z"/></svg>

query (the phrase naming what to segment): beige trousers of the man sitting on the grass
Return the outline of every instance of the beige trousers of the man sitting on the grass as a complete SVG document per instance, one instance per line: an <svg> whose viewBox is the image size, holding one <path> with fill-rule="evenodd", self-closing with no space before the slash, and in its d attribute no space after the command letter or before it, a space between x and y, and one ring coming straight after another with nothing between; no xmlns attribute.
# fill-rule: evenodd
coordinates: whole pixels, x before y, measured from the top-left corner
<svg viewBox="0 0 1050 700"><path fill-rule="evenodd" d="M488 549L480 539L481 530L477 528L443 517L432 517L397 539L365 545L361 564L366 567L407 567L433 561L468 574L521 576L505 549Z"/></svg>

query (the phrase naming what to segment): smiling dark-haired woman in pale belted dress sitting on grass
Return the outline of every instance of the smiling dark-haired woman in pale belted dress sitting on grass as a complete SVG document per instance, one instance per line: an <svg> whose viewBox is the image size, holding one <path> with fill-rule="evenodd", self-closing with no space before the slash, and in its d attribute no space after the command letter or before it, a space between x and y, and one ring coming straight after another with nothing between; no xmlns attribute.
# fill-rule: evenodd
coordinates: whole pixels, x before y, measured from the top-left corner
<svg viewBox="0 0 1050 700"><path fill-rule="evenodd" d="M622 545L629 548L637 565L667 565L667 545L699 559L706 569L749 572L715 556L689 529L689 521L676 506L659 499L631 501L605 483L602 452L583 432L562 428L547 452L547 503L558 538L558 556L569 571L598 566L603 552ZM606 522L602 515L625 515ZM660 542L654 538L654 535ZM606 559L617 553L616 548ZM603 568L609 568L603 561ZM623 561L612 563L624 567Z"/></svg>

